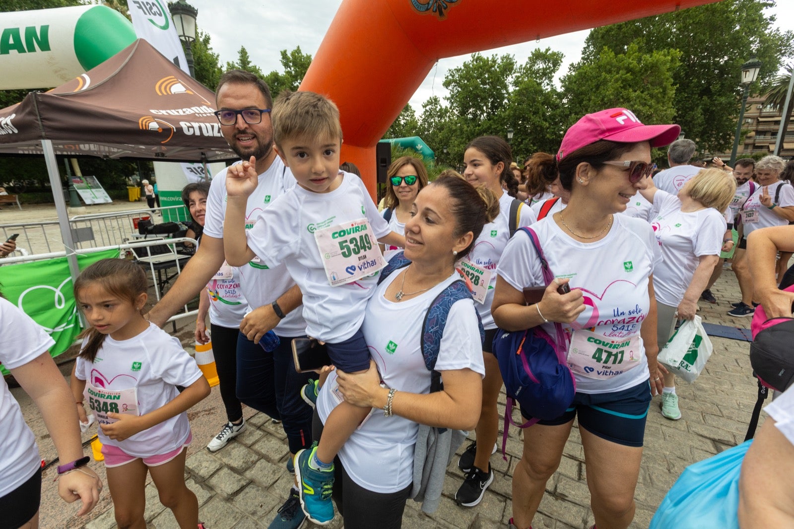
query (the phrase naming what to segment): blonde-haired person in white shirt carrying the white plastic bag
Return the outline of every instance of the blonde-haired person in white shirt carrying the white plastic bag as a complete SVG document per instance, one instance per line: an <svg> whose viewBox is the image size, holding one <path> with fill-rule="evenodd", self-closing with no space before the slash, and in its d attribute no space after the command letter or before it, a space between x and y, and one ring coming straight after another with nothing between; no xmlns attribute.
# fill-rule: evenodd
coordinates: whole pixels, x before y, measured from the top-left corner
<svg viewBox="0 0 794 529"><path fill-rule="evenodd" d="M661 191L653 180L640 193L653 203L651 222L662 261L654 272L657 300L657 341L660 347L673 335L676 319L694 319L697 300L708 284L723 249L727 222L721 213L736 192L736 180L722 169L703 169L677 196ZM676 376L665 373L661 414L678 420Z"/></svg>

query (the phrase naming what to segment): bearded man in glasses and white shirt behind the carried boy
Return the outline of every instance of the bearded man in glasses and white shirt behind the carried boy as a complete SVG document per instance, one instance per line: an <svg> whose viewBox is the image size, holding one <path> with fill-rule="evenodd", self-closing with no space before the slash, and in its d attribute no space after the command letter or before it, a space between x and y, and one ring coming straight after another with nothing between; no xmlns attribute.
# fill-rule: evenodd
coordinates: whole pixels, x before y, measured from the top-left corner
<svg viewBox="0 0 794 529"><path fill-rule="evenodd" d="M246 207L246 229L257 213L295 187L295 178L273 150L270 120L272 97L267 83L247 71L230 70L222 75L216 92L221 132L232 150L249 160L256 158L259 183ZM206 202L206 224L201 244L160 303L149 312L150 321L162 326L179 307L189 302L224 264L223 222L225 218L226 169L215 175ZM237 398L273 419L280 419L291 454L311 445L312 408L303 402L300 389L307 375L295 373L292 338L305 336L306 322L300 310L302 295L283 264L268 268L258 258L240 267L241 289L252 311L245 315L237 339ZM280 344L271 352L258 342L274 330ZM239 428L237 433L240 433ZM292 458L287 462L291 468ZM295 529L303 524L296 488L279 508L272 529Z"/></svg>

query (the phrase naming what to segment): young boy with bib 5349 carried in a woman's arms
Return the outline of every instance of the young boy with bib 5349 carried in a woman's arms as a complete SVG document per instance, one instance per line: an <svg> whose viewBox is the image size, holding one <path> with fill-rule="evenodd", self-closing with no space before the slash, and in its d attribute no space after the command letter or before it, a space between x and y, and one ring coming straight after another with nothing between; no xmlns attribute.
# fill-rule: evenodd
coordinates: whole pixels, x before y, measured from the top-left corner
<svg viewBox="0 0 794 529"><path fill-rule="evenodd" d="M245 218L256 189L255 159L229 167L223 245L226 261L284 263L303 292L306 334L326 342L345 373L369 369L360 330L364 308L386 264L378 242L403 247L378 213L364 183L339 170L342 132L337 106L313 92L283 92L272 110L276 153L298 185L257 218ZM246 233L246 223L254 222ZM342 402L326 419L318 446L295 454L301 505L314 523L333 519L333 458L369 410Z"/></svg>

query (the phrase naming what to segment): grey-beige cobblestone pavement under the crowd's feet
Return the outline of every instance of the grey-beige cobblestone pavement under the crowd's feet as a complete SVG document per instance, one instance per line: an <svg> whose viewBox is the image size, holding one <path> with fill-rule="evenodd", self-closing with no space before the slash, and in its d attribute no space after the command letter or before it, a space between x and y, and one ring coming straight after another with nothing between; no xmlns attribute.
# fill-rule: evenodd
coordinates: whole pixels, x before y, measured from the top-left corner
<svg viewBox="0 0 794 529"><path fill-rule="evenodd" d="M738 300L734 274L726 271L712 289L719 303L701 301L704 322L747 328L750 319L726 315L730 302ZM756 398L751 377L748 342L712 338L714 353L706 371L694 384L683 381L677 389L682 419L671 421L661 416L659 397L651 404L646 427L646 444L636 492L637 514L631 527L648 527L653 513L681 471L696 461L742 442ZM214 388L213 392L217 389ZM504 396L501 398L503 411ZM205 441L206 442L206 441ZM198 441L196 446L199 446ZM192 448L192 447L191 447ZM516 428L507 441L507 461L501 454L491 457L495 479L476 508L460 508L452 497L463 477L456 461L449 466L445 494L434 515L422 514L418 504L409 501L403 518L407 528L487 528L507 527L511 516L511 476L521 456L522 440ZM215 454L196 450L187 458L187 482L198 496L201 519L208 529L268 527L276 510L286 500L292 476L285 463L286 436L279 424L267 416L253 415L249 428ZM584 454L579 431L574 427L560 468L549 480L546 494L534 519L534 527L569 529L591 527L585 481ZM46 482L46 481L45 481ZM103 496L107 492L102 493ZM157 500L154 486L147 487L149 527L177 527L170 511ZM110 502L105 512L92 513L88 529L114 527ZM71 525L70 527L79 527ZM333 529L342 527L334 519Z"/></svg>

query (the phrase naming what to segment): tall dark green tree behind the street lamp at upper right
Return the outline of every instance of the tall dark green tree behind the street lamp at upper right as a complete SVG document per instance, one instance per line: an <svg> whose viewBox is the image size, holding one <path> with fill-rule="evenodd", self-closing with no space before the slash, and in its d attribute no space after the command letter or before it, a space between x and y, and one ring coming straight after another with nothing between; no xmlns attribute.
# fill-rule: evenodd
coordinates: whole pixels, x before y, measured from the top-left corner
<svg viewBox="0 0 794 529"><path fill-rule="evenodd" d="M763 12L773 5L772 0L724 0L593 29L579 67L594 64L604 48L616 56L631 44L642 54L678 50L674 121L700 152L724 150L734 137L742 63L753 53L761 60L758 83L750 92L762 92L780 68L782 55L791 53L794 33L774 29L773 17Z"/></svg>

